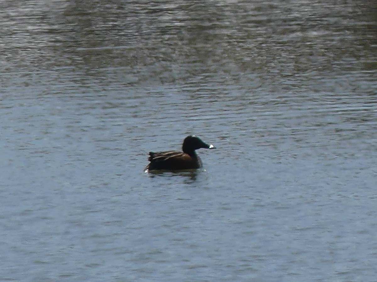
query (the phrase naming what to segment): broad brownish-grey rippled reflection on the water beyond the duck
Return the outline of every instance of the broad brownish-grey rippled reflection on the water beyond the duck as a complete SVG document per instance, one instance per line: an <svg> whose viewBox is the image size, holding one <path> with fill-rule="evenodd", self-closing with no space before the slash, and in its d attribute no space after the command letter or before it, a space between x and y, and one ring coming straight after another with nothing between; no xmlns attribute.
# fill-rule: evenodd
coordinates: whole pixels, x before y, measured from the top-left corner
<svg viewBox="0 0 377 282"><path fill-rule="evenodd" d="M8 71L83 72L107 86L262 76L300 88L349 72L372 79L375 5L5 1L1 60Z"/></svg>

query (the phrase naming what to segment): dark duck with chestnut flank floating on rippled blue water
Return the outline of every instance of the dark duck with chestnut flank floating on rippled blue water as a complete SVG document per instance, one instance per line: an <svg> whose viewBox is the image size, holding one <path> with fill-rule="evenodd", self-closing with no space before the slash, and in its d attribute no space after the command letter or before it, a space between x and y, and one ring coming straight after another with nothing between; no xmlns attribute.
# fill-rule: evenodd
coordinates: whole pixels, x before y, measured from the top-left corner
<svg viewBox="0 0 377 282"><path fill-rule="evenodd" d="M191 170L202 167L202 161L195 150L216 149L212 144L207 144L195 135L189 135L183 140L182 151L149 152L150 162L144 171L151 170Z"/></svg>

